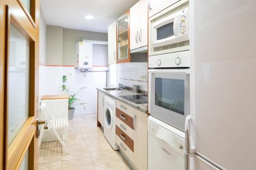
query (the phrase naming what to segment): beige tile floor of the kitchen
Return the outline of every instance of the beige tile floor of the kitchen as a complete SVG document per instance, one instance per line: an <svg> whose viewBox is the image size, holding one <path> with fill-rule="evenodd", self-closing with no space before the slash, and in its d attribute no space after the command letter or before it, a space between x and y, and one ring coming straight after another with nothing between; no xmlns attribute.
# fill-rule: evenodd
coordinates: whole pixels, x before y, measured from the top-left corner
<svg viewBox="0 0 256 170"><path fill-rule="evenodd" d="M95 169L129 170L118 151L114 151L102 131L96 127L97 115L75 116L69 120L69 136L62 150L58 141L43 142L39 150L39 170Z"/></svg>

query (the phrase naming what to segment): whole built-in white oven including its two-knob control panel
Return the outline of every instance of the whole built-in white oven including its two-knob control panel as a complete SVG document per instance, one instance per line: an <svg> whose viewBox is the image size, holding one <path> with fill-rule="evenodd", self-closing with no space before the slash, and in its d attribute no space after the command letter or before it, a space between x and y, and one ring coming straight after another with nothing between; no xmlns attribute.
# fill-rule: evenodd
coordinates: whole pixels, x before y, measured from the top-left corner
<svg viewBox="0 0 256 170"><path fill-rule="evenodd" d="M190 114L189 51L150 56L148 112L184 131Z"/></svg>

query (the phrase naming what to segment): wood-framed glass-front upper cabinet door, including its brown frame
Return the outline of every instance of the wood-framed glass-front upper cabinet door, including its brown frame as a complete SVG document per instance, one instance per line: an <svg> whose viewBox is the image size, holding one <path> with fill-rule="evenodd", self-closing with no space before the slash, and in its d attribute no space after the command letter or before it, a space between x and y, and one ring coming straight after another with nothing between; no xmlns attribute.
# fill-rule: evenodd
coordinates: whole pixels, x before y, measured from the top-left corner
<svg viewBox="0 0 256 170"><path fill-rule="evenodd" d="M130 62L130 16L129 11L117 21L117 63Z"/></svg>

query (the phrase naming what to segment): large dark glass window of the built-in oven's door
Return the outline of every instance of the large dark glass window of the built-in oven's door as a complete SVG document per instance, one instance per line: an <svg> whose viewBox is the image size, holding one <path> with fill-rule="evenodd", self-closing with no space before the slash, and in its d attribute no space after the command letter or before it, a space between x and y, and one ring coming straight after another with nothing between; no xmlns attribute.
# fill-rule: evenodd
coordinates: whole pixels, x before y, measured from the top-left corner
<svg viewBox="0 0 256 170"><path fill-rule="evenodd" d="M155 105L184 115L184 80L156 78Z"/></svg>

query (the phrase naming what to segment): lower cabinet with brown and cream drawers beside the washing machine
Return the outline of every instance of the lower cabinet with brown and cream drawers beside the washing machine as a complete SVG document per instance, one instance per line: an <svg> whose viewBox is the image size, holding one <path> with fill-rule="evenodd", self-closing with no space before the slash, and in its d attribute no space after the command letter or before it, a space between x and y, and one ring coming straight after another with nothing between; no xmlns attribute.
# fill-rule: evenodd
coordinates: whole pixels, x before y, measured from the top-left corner
<svg viewBox="0 0 256 170"><path fill-rule="evenodd" d="M116 143L137 169L147 169L147 114L116 101Z"/></svg>

